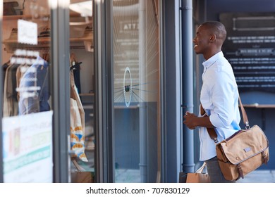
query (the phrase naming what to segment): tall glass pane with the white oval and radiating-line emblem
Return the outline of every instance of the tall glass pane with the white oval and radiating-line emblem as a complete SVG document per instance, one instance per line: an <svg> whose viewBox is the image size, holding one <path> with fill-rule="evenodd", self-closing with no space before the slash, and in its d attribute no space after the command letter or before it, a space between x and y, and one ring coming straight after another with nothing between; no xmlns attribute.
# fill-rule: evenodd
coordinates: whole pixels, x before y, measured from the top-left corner
<svg viewBox="0 0 275 197"><path fill-rule="evenodd" d="M158 1L114 0L115 182L157 182Z"/></svg>

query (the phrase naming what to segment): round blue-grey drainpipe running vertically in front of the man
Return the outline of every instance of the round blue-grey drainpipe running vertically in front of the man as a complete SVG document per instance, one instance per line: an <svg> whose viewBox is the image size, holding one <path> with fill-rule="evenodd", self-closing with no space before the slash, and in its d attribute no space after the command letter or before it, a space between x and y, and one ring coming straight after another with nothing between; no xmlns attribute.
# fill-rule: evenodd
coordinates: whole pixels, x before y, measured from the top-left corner
<svg viewBox="0 0 275 197"><path fill-rule="evenodd" d="M181 1L182 107L193 113L193 7L192 0ZM193 131L183 124L183 172L194 171Z"/></svg>

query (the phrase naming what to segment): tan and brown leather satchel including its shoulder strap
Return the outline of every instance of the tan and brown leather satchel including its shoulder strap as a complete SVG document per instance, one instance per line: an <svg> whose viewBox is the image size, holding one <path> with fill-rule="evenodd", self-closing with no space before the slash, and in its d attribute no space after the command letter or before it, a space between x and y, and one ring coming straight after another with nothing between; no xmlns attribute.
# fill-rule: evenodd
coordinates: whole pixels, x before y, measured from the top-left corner
<svg viewBox="0 0 275 197"><path fill-rule="evenodd" d="M240 108L243 114L245 129L241 129L228 139L217 141L217 135L213 128L207 128L207 132L216 144L216 155L219 160L221 172L224 178L233 181L244 177L256 170L262 164L269 161L269 141L262 129L254 125L250 128L245 108L239 97ZM200 106L201 114L205 111Z"/></svg>

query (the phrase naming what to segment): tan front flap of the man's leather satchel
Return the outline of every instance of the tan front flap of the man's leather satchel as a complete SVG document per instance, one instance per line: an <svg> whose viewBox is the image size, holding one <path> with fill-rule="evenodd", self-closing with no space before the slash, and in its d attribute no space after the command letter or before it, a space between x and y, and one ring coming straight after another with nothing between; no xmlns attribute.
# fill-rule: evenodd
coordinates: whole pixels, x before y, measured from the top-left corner
<svg viewBox="0 0 275 197"><path fill-rule="evenodd" d="M237 165L266 150L269 142L262 129L254 125L250 129L240 130L217 146L221 146L226 158Z"/></svg>

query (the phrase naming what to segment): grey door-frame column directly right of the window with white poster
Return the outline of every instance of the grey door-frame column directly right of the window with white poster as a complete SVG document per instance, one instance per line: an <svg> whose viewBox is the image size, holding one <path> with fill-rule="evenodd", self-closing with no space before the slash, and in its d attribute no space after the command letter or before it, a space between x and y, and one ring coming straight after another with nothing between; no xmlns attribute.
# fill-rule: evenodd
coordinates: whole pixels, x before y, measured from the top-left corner
<svg viewBox="0 0 275 197"><path fill-rule="evenodd" d="M51 1L51 96L54 110L54 182L68 182L70 135L69 1Z"/></svg>

